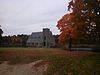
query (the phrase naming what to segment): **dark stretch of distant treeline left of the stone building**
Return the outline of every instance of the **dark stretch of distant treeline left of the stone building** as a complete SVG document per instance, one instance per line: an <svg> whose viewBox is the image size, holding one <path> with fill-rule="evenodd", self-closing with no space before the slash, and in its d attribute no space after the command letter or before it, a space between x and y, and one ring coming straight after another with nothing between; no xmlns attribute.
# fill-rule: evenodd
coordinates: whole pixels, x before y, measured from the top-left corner
<svg viewBox="0 0 100 75"><path fill-rule="evenodd" d="M2 36L1 47L25 47L29 35Z"/></svg>

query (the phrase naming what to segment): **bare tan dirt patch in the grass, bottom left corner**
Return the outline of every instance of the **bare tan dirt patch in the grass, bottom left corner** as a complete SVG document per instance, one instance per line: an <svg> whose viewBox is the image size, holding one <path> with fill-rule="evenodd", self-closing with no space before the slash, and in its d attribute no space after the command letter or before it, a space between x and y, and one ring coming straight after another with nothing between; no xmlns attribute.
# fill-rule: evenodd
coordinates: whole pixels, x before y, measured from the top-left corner
<svg viewBox="0 0 100 75"><path fill-rule="evenodd" d="M29 64L9 65L8 61L0 64L0 75L43 75L48 63L38 60Z"/></svg>

